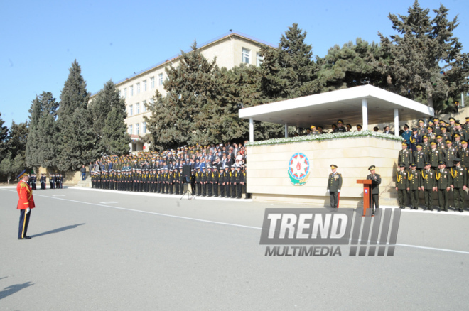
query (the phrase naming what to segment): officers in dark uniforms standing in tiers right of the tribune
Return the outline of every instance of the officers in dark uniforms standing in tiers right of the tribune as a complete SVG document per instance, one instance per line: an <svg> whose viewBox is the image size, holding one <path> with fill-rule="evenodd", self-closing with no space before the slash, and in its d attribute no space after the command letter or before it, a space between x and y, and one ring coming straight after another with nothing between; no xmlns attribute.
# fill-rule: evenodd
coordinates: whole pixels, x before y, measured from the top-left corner
<svg viewBox="0 0 469 311"><path fill-rule="evenodd" d="M399 206L405 208L407 194L411 209L418 209L419 191L424 192L424 210L433 210L433 192L438 192L439 211L448 212L450 192L453 192L455 210L464 211L468 191L469 117L465 124L454 118L446 121L435 118L424 126L402 134L404 142L399 151L396 173L396 191Z"/></svg>

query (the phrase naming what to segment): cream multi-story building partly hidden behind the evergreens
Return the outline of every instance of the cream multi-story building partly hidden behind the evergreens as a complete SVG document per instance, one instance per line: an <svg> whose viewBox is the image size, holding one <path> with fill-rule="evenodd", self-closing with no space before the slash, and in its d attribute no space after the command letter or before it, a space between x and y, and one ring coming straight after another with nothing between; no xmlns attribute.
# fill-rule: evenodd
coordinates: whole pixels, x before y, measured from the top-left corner
<svg viewBox="0 0 469 311"><path fill-rule="evenodd" d="M232 31L204 43L198 50L208 60L216 57L218 67L226 67L230 70L242 63L261 65L262 57L259 52L262 45L276 48L270 43ZM150 116L151 113L146 111L145 104L153 100L156 90L163 96L166 95L163 81L166 79L165 68L170 65L178 66L178 55L116 83L120 95L126 101L128 116L125 121L132 139L131 152L148 150L149 146L141 140L141 137L149 133L144 116ZM95 96L96 94L93 94L90 100Z"/></svg>

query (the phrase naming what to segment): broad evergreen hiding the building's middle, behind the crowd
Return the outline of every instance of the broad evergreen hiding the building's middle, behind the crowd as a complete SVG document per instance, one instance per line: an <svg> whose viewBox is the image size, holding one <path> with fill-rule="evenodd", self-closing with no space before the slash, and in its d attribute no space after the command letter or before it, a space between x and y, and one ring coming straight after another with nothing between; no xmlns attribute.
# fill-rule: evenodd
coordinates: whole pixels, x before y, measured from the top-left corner
<svg viewBox="0 0 469 311"><path fill-rule="evenodd" d="M185 143L207 144L222 139L222 121L234 113L226 102L218 102L223 75L216 60L207 60L197 43L190 53L181 52L177 67L166 69L163 82L166 97L156 92L153 104L147 104L151 118L146 118L153 136L153 148L173 148Z"/></svg>

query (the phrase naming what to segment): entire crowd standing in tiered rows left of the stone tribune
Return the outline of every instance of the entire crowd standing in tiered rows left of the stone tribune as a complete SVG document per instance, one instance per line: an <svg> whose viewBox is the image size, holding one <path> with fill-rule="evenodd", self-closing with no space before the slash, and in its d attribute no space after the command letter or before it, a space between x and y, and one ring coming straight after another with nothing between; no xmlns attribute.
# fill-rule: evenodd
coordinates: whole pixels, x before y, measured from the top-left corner
<svg viewBox="0 0 469 311"><path fill-rule="evenodd" d="M97 189L182 195L190 185L193 195L240 199L246 193L246 156L237 143L181 146L103 156L88 169Z"/></svg>

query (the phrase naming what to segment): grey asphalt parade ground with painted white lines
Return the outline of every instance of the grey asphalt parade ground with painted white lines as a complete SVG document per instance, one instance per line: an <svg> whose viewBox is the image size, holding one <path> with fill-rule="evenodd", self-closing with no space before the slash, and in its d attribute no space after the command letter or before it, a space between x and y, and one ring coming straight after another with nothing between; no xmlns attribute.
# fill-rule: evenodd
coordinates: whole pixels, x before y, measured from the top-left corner
<svg viewBox="0 0 469 311"><path fill-rule="evenodd" d="M469 210L401 213L393 257L265 256L265 208L74 187L0 187L1 310L465 310ZM294 207L307 207L295 205Z"/></svg>

